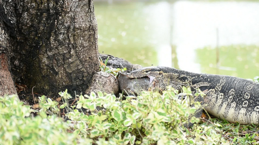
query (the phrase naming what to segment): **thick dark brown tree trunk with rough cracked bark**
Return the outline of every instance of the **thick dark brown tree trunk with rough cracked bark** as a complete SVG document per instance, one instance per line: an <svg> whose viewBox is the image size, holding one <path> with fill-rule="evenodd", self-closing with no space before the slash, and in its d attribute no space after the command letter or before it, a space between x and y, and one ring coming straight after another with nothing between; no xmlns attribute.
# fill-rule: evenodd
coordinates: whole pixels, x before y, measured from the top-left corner
<svg viewBox="0 0 259 145"><path fill-rule="evenodd" d="M52 97L66 88L84 92L99 70L93 1L3 0L0 5L11 21L4 25L15 82Z"/></svg>

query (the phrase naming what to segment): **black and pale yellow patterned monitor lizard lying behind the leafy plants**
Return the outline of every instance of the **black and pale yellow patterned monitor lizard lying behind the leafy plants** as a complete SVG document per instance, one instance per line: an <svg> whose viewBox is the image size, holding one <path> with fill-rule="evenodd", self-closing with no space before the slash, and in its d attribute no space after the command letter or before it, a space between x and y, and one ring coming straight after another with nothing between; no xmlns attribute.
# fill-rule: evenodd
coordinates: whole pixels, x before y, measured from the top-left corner
<svg viewBox="0 0 259 145"><path fill-rule="evenodd" d="M168 67L146 67L128 73L129 78L150 77L149 89L190 86L205 91L205 110L229 122L259 124L259 83L214 74L191 73ZM154 79L155 77L155 79ZM153 80L154 79L154 80Z"/></svg>

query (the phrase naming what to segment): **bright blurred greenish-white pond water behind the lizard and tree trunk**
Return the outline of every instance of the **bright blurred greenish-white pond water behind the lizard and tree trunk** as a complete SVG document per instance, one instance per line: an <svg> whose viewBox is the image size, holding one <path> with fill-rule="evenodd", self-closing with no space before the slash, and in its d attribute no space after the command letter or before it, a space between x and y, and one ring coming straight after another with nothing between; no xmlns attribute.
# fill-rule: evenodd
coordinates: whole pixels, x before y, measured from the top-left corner
<svg viewBox="0 0 259 145"><path fill-rule="evenodd" d="M95 2L99 52L142 66L254 78L259 2Z"/></svg>

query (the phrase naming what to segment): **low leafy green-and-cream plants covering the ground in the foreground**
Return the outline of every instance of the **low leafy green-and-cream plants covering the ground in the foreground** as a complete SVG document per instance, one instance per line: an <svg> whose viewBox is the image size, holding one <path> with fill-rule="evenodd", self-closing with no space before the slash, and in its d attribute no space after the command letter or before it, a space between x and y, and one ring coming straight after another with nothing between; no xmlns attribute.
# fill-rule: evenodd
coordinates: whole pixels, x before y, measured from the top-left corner
<svg viewBox="0 0 259 145"><path fill-rule="evenodd" d="M201 107L190 107L190 88L179 100L178 92L168 87L163 95L143 91L139 96L116 98L98 92L71 96L60 92L61 104L39 97L40 110L31 109L14 95L0 97L0 145L224 145L256 144L256 126L230 125L217 119L201 122L193 117ZM65 117L60 109L66 109ZM82 109L89 110L84 114ZM187 123L193 123L190 129ZM251 129L254 130L251 131ZM250 132L245 132L249 131ZM244 134L242 134L244 133Z"/></svg>

